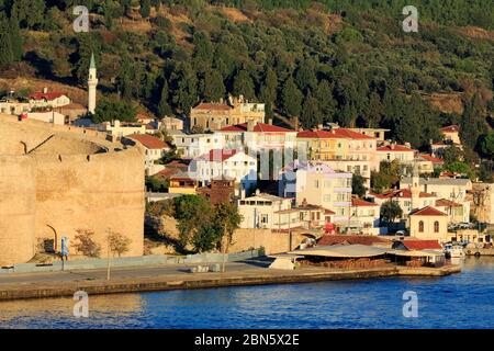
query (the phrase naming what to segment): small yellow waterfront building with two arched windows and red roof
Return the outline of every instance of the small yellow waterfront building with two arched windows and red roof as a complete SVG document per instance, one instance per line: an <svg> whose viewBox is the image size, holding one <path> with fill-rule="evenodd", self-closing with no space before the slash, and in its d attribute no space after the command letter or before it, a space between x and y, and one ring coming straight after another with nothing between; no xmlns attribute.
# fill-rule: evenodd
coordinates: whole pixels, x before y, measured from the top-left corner
<svg viewBox="0 0 494 351"><path fill-rule="evenodd" d="M427 206L409 215L409 235L417 239L448 240L448 215Z"/></svg>

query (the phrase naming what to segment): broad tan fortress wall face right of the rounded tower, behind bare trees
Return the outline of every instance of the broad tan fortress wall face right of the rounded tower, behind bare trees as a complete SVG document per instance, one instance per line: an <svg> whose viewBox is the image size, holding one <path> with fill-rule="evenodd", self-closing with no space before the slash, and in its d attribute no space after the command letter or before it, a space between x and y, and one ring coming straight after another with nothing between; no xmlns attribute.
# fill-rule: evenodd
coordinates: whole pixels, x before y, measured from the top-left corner
<svg viewBox="0 0 494 351"><path fill-rule="evenodd" d="M61 161L60 161L61 159ZM106 229L128 237L130 252L143 254L144 156L136 149L99 155L36 157L36 241L69 238L91 229L106 254Z"/></svg>

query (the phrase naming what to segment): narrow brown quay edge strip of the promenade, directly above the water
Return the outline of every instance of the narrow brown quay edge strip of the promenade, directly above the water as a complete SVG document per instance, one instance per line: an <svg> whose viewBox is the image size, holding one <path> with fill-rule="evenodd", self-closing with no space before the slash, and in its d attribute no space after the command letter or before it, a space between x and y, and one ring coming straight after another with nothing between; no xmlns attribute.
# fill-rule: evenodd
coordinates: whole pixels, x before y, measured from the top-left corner
<svg viewBox="0 0 494 351"><path fill-rule="evenodd" d="M461 272L459 265L442 268L383 267L356 270L303 268L294 271L246 269L225 273L167 273L155 276L80 279L0 284L0 301L74 296L78 291L89 295L155 292L171 290L224 287L240 285L306 283L333 280L357 280L391 276L442 276Z"/></svg>

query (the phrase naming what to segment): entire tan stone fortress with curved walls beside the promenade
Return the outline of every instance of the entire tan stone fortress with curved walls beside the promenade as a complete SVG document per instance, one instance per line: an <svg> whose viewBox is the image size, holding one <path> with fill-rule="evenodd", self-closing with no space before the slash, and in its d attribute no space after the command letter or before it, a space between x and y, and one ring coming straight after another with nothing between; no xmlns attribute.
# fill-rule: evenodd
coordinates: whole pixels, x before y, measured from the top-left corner
<svg viewBox="0 0 494 351"><path fill-rule="evenodd" d="M25 152L29 154L25 154ZM61 237L74 250L77 229L94 231L106 254L106 230L128 237L143 254L144 155L105 135L0 116L0 264L30 260Z"/></svg>

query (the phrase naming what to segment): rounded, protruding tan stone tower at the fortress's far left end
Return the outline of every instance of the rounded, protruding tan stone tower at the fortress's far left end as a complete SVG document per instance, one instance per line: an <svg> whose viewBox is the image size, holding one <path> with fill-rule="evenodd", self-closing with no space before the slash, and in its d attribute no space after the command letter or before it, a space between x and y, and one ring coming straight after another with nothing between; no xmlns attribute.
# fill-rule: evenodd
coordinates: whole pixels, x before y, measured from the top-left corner
<svg viewBox="0 0 494 351"><path fill-rule="evenodd" d="M0 265L34 256L35 186L32 158L0 156Z"/></svg>

